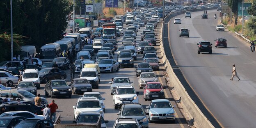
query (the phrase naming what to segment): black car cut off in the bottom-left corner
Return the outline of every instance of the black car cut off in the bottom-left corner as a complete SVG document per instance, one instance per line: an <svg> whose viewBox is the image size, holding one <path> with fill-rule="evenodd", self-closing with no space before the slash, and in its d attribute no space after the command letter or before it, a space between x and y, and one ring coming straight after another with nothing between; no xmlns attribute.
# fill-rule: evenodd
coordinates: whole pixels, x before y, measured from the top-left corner
<svg viewBox="0 0 256 128"><path fill-rule="evenodd" d="M24 119L27 119L25 117L0 117L0 128L13 128L18 124L20 121L23 121Z"/></svg>

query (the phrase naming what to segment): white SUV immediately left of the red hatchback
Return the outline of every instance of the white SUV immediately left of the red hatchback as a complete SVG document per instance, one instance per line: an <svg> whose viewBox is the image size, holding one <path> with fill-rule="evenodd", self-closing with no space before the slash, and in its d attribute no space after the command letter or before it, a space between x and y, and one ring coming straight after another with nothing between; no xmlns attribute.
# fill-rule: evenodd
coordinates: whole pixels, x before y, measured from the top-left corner
<svg viewBox="0 0 256 128"><path fill-rule="evenodd" d="M138 94L139 92L136 92L133 86L118 86L113 96L114 108L118 109L118 107L123 105L123 102L139 103Z"/></svg>

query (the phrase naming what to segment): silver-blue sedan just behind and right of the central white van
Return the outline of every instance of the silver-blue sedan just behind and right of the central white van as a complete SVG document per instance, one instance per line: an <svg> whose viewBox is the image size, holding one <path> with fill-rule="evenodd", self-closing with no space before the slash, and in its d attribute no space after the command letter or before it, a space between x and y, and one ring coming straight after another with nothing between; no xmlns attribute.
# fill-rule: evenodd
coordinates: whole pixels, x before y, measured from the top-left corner
<svg viewBox="0 0 256 128"><path fill-rule="evenodd" d="M102 59L98 63L101 72L119 71L119 64L115 59Z"/></svg>

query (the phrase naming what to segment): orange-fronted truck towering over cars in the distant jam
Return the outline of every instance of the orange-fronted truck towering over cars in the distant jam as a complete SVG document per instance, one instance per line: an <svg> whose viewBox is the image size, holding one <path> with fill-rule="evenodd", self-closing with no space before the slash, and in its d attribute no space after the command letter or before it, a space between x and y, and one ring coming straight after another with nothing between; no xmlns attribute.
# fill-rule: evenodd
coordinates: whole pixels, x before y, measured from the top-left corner
<svg viewBox="0 0 256 128"><path fill-rule="evenodd" d="M116 39L117 27L115 23L105 23L102 25L102 27L103 27L103 36L108 36L109 38L114 37L114 39Z"/></svg>

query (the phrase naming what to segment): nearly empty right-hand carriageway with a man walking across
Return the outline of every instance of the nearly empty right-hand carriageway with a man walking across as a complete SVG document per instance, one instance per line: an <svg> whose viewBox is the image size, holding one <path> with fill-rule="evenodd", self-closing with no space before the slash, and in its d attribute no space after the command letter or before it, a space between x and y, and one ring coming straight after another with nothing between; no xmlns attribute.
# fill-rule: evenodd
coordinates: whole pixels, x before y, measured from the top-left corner
<svg viewBox="0 0 256 128"><path fill-rule="evenodd" d="M217 19L214 19L214 14ZM249 44L231 32L217 32L219 12L208 11L208 19L201 19L203 12L192 12L192 18L185 14L175 17L182 24L168 23L168 36L173 58L185 79L208 107L210 112L225 128L256 127L256 53ZM190 30L190 37L179 37L181 28ZM215 48L215 39L224 37L227 48ZM213 43L213 54L197 53L199 41ZM231 78L235 64L240 77Z"/></svg>

